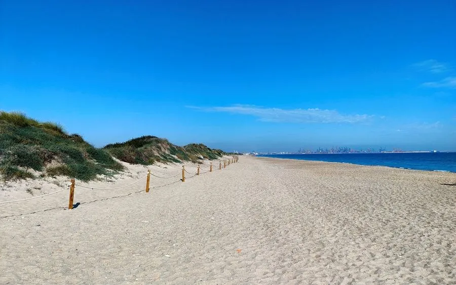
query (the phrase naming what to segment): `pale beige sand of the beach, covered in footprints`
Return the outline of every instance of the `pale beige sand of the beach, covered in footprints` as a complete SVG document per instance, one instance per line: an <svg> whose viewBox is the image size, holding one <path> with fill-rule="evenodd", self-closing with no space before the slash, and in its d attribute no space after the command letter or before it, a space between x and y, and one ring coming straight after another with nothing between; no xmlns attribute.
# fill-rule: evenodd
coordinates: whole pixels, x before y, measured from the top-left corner
<svg viewBox="0 0 456 285"><path fill-rule="evenodd" d="M0 283L456 283L456 174L241 156L178 179L0 205Z"/></svg>

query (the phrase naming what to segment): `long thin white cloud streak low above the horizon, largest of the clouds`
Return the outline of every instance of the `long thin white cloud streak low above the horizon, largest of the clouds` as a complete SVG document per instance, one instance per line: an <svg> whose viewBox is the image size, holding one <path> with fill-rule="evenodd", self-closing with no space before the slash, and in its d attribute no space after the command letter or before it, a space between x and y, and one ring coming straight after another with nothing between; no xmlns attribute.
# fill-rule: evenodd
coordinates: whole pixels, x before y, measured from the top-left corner
<svg viewBox="0 0 456 285"><path fill-rule="evenodd" d="M287 122L287 123L362 123L373 115L345 115L336 110L310 109L280 109L264 108L251 105L235 105L230 107L193 107L208 112L226 112L233 114L244 114L258 117L262 121Z"/></svg>

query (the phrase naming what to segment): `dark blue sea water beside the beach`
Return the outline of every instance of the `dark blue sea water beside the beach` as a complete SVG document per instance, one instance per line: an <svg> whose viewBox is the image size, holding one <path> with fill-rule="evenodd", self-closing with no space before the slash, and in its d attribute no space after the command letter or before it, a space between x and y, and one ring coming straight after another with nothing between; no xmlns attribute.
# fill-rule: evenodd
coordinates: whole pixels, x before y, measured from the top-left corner
<svg viewBox="0 0 456 285"><path fill-rule="evenodd" d="M258 156L456 173L456 152L268 154Z"/></svg>

